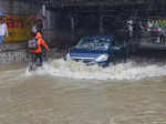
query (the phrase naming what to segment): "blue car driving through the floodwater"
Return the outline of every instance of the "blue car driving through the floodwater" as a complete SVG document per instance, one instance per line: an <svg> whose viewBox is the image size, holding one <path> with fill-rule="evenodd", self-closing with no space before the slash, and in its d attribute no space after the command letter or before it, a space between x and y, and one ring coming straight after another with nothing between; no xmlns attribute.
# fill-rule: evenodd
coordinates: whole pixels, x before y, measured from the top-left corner
<svg viewBox="0 0 166 124"><path fill-rule="evenodd" d="M70 49L64 60L83 62L86 65L108 66L116 60L125 61L128 53L127 43L115 39L114 35L86 35Z"/></svg>

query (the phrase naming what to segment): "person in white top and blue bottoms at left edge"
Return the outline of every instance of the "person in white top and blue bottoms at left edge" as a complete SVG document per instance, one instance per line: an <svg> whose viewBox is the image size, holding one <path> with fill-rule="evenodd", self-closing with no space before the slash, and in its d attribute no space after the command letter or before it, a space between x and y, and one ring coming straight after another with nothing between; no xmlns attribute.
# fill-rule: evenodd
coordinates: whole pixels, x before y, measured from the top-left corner
<svg viewBox="0 0 166 124"><path fill-rule="evenodd" d="M8 28L4 19L0 17L0 52L4 50L4 37L9 37Z"/></svg>

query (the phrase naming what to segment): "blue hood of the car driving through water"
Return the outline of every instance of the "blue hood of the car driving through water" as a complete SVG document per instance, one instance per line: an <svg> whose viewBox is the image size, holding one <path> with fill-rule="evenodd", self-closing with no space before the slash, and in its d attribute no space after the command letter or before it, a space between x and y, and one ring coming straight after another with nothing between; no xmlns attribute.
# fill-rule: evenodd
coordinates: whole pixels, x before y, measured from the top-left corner
<svg viewBox="0 0 166 124"><path fill-rule="evenodd" d="M107 51L101 51L101 50L85 50L85 49L72 49L71 50L71 58L90 58L90 59L93 59L93 58L97 58L98 55L101 54L104 54L104 53L107 53Z"/></svg>

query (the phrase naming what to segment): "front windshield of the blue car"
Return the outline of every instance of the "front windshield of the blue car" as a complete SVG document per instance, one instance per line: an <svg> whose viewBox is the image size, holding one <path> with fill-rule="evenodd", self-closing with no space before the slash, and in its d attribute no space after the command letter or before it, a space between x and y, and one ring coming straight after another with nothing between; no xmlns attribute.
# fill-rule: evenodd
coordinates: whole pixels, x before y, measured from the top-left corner
<svg viewBox="0 0 166 124"><path fill-rule="evenodd" d="M77 43L77 49L107 50L111 39L108 38L83 38Z"/></svg>

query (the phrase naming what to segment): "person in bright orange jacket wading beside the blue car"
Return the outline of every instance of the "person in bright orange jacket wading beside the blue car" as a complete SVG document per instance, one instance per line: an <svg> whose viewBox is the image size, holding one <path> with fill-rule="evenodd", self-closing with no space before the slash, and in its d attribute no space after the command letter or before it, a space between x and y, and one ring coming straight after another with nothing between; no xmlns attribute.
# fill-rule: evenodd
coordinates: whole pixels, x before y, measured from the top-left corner
<svg viewBox="0 0 166 124"><path fill-rule="evenodd" d="M43 50L42 50L42 48L44 48L48 51L50 50L50 48L45 43L45 41L43 40L42 34L40 32L37 33L35 39L37 39L38 48L35 50L30 50L30 52L34 54L33 62L35 63L37 60L39 59L40 60L39 66L42 66L42 63L43 63L43 58L42 58Z"/></svg>

